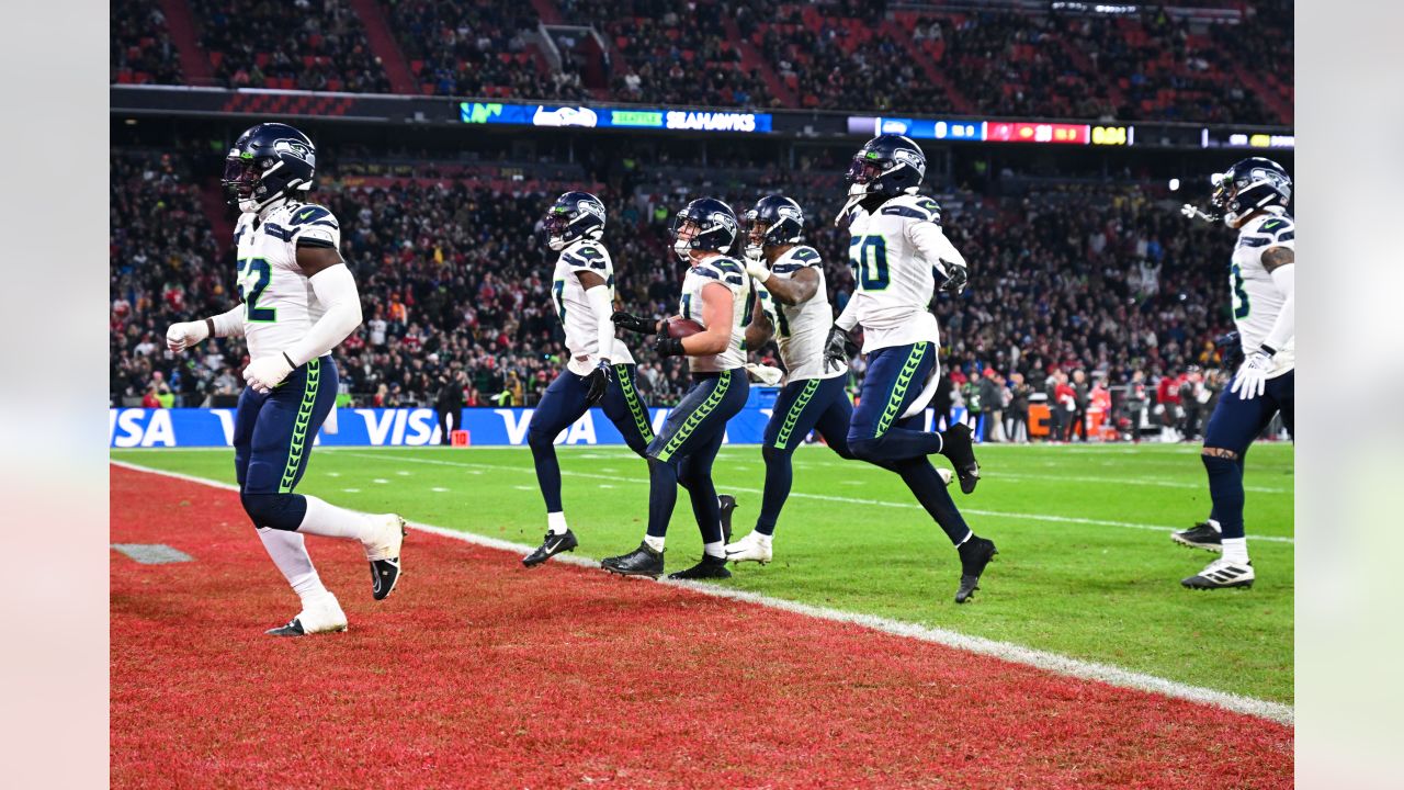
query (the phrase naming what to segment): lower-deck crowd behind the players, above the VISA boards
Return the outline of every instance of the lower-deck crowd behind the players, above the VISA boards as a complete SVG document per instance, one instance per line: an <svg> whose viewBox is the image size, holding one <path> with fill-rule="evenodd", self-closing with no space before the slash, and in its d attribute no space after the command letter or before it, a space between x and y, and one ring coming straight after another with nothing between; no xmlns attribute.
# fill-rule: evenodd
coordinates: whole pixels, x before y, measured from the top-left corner
<svg viewBox="0 0 1404 790"><path fill-rule="evenodd" d="M665 229L684 204L674 179L687 174L671 166L643 170L625 197L601 190L611 207L605 242L619 301L665 316L675 312L682 271ZM719 193L739 211L767 190L799 197L809 242L824 256L831 298L842 309L852 280L842 231L831 222L838 177L817 167L788 180L764 170L751 176ZM535 229L564 186L512 193L461 179L380 179L341 187L334 174L324 184L316 200L341 221L343 253L365 315L337 350L344 401L427 406L456 388L470 406L535 403L564 353L549 298L553 261ZM111 187L114 405L208 405L233 396L241 387L241 342L219 340L183 356L167 353L163 342L168 323L220 312L236 298L226 245L199 211L181 156L114 156ZM1031 394L1064 402L1060 384L1074 406L1085 408L1095 384L1148 389L1143 408L1153 409L1168 402L1165 392L1157 395L1167 380L1182 382L1192 367L1216 364L1213 337L1230 325L1224 239L1213 236L1216 229L1185 222L1174 205L1136 187L935 197L948 235L972 261L966 294L942 294L934 306L949 380L943 403L979 413L981 405L994 412L1012 402L1012 419ZM774 346L753 356L774 363ZM687 387L681 360L646 350L637 357L649 399L675 402ZM862 373L859 360L855 382ZM1060 382L1060 375L1082 381ZM997 389L981 392L983 380ZM1171 406L1179 402L1174 389Z"/></svg>

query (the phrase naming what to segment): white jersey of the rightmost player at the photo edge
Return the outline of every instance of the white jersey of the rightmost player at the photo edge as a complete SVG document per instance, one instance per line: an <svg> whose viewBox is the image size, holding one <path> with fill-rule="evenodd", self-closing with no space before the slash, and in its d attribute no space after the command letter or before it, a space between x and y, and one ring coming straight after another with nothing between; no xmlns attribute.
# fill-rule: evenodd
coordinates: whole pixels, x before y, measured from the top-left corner
<svg viewBox="0 0 1404 790"><path fill-rule="evenodd" d="M1297 249L1297 231L1286 212L1269 212L1250 219L1238 229L1238 246L1228 267L1228 290L1233 298L1233 322L1238 328L1244 351L1261 346L1282 312L1286 298L1278 291L1272 274L1262 267L1262 252L1268 247ZM1272 357L1268 378L1275 378L1296 365L1296 339L1287 340Z"/></svg>

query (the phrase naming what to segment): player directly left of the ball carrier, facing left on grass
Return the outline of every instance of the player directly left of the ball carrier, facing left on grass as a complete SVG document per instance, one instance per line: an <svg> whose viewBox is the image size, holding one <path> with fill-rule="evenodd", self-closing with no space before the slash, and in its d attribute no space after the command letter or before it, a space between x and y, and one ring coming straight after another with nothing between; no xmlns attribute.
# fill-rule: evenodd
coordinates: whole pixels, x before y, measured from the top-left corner
<svg viewBox="0 0 1404 790"><path fill-rule="evenodd" d="M609 250L600 243L604 229L605 205L590 193L560 195L542 219L546 246L560 253L550 292L556 316L566 330L570 360L546 388L526 430L536 482L546 499L546 537L536 551L522 558L528 568L580 544L562 510L556 436L600 403L630 450L643 455L653 441L633 356L615 337L609 320L615 280Z"/></svg>

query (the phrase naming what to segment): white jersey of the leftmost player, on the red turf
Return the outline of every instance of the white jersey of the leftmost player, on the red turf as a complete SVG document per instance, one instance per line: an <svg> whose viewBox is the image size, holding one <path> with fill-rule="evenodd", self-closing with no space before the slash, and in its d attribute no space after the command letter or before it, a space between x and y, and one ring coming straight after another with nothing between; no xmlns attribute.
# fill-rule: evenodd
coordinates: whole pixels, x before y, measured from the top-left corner
<svg viewBox="0 0 1404 790"><path fill-rule="evenodd" d="M278 354L302 340L326 308L298 266L298 242L341 249L341 226L320 205L288 201L267 219L241 214L234 225L236 280L244 302L249 358Z"/></svg>

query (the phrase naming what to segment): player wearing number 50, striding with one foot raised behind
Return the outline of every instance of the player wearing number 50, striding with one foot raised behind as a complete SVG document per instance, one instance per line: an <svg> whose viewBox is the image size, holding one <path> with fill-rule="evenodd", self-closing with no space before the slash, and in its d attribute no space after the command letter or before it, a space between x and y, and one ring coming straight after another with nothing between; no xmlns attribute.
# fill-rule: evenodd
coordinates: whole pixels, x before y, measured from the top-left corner
<svg viewBox="0 0 1404 790"><path fill-rule="evenodd" d="M938 278L942 290L959 294L967 277L965 257L941 231L941 208L917 194L925 171L925 155L901 135L876 136L854 157L848 202L838 214L838 224L847 224L851 233L854 295L830 329L824 364L847 363L856 350L851 332L863 330L868 374L848 447L858 458L901 474L955 544L960 555L956 603L965 603L979 589L995 547L966 524L928 458L938 453L949 458L960 491L974 491L980 467L970 429L922 430L922 410L939 380L941 335L928 306Z"/></svg>

